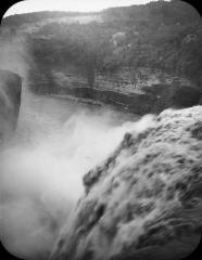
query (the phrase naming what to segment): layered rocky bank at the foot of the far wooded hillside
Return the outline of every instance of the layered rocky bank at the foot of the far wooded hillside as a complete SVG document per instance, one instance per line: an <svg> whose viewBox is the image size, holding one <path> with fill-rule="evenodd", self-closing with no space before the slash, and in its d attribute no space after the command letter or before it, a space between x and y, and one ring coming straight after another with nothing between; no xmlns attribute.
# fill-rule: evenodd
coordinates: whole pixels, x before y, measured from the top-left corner
<svg viewBox="0 0 202 260"><path fill-rule="evenodd" d="M197 105L201 95L188 78L159 69L123 67L113 74L96 72L91 86L78 67L66 65L45 69L42 74L35 72L29 86L38 93L74 96L81 102L113 105L139 115Z"/></svg>

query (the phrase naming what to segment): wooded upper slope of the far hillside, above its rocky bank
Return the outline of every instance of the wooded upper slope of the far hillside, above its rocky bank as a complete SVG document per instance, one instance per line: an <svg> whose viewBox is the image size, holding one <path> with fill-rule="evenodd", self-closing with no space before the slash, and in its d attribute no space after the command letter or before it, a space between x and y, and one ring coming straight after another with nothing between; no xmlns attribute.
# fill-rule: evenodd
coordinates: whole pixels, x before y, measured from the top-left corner
<svg viewBox="0 0 202 260"><path fill-rule="evenodd" d="M55 92L56 77L61 75L60 80L63 78L64 84L70 81L67 70L85 78L85 83L93 88L98 75L113 76L123 68L134 72L131 84L135 88L137 81L146 81L156 70L174 78L184 77L189 86L202 91L201 16L182 1L156 1L112 8L100 13L14 15L5 17L2 26L26 36L35 62L31 77L41 80L43 72L45 81L48 82L42 90L34 86L35 91ZM142 68L152 72L147 75ZM163 77L161 83L165 81ZM148 90L148 86L142 83L140 90L156 92L156 84L153 86L152 90ZM184 88L184 83L177 87ZM184 92L193 98L193 103L197 102L195 93L199 96L199 92L193 95L190 91Z"/></svg>

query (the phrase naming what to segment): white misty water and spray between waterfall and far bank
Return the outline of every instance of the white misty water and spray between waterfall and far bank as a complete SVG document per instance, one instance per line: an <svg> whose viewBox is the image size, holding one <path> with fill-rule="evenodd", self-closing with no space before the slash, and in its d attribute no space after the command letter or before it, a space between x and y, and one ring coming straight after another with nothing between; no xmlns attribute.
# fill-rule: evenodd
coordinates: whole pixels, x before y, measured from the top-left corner
<svg viewBox="0 0 202 260"><path fill-rule="evenodd" d="M81 178L134 127L124 115L23 93L14 139L0 155L0 239L24 259L47 259Z"/></svg>

